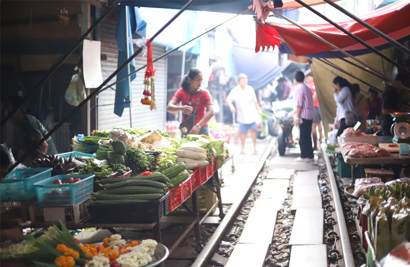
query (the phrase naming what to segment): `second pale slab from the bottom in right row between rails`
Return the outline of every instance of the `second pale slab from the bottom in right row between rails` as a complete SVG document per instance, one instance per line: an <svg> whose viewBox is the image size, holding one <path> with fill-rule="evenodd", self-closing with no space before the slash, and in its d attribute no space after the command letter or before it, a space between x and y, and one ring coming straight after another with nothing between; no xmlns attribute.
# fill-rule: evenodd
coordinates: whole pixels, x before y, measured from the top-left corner
<svg viewBox="0 0 410 267"><path fill-rule="evenodd" d="M323 208L297 209L289 244L323 244Z"/></svg>

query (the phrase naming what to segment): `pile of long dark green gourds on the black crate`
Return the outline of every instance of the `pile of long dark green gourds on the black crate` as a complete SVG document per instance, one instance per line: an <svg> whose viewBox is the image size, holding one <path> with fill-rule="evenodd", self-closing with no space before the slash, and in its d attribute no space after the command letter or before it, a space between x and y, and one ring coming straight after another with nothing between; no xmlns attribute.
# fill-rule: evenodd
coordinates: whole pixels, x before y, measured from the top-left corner
<svg viewBox="0 0 410 267"><path fill-rule="evenodd" d="M91 204L113 204L153 201L167 193L169 179L159 173L130 178L112 178L98 181L102 188L90 193Z"/></svg>

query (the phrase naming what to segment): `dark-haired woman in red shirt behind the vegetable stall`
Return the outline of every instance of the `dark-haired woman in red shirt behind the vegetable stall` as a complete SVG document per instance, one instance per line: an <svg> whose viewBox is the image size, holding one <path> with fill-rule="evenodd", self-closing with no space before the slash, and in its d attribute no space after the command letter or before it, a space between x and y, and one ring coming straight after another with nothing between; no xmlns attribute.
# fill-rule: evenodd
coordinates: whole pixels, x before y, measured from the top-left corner
<svg viewBox="0 0 410 267"><path fill-rule="evenodd" d="M200 88L202 84L202 72L196 68L189 70L170 103L167 106L169 112L183 113L182 121L192 114L196 104L194 126L189 131L193 135L204 134L209 136L208 121L214 115L212 97L207 89ZM178 105L181 102L181 105Z"/></svg>

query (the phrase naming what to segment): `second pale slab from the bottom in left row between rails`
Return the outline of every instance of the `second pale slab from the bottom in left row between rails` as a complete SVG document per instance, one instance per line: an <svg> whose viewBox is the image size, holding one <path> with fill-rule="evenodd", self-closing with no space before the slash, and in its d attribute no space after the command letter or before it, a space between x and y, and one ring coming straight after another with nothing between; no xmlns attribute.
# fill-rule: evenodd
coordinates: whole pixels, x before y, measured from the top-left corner
<svg viewBox="0 0 410 267"><path fill-rule="evenodd" d="M277 209L281 203L275 199L258 199L249 213L238 243L271 244L275 231Z"/></svg>

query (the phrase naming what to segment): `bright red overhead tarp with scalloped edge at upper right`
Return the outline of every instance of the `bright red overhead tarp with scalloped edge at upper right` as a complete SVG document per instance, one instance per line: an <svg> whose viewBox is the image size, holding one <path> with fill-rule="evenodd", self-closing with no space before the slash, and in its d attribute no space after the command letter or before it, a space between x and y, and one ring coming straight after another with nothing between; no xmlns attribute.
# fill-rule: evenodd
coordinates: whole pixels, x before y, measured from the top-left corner
<svg viewBox="0 0 410 267"><path fill-rule="evenodd" d="M405 41L410 35L409 14L410 1L401 0L397 3L363 15L361 20L381 30L395 40ZM292 52L295 55L311 55L319 58L326 57L321 52L334 51L331 46L326 45L295 25L283 23L283 20L278 20L277 18L270 23L275 28L258 24L255 47L256 52L260 50L260 47L262 47L263 51L264 48L269 49L271 46L277 46L278 38L281 42L285 43L285 45L281 45L281 53ZM338 23L338 25L373 47L383 49L386 48L386 46L389 46L389 43L386 40L378 37L374 32L354 20ZM363 45L352 39L352 37L341 32L329 23L307 24L302 26L345 51L367 50ZM286 49L286 46L289 49ZM370 50L367 52L370 52ZM365 53L365 51L361 51L361 53Z"/></svg>

